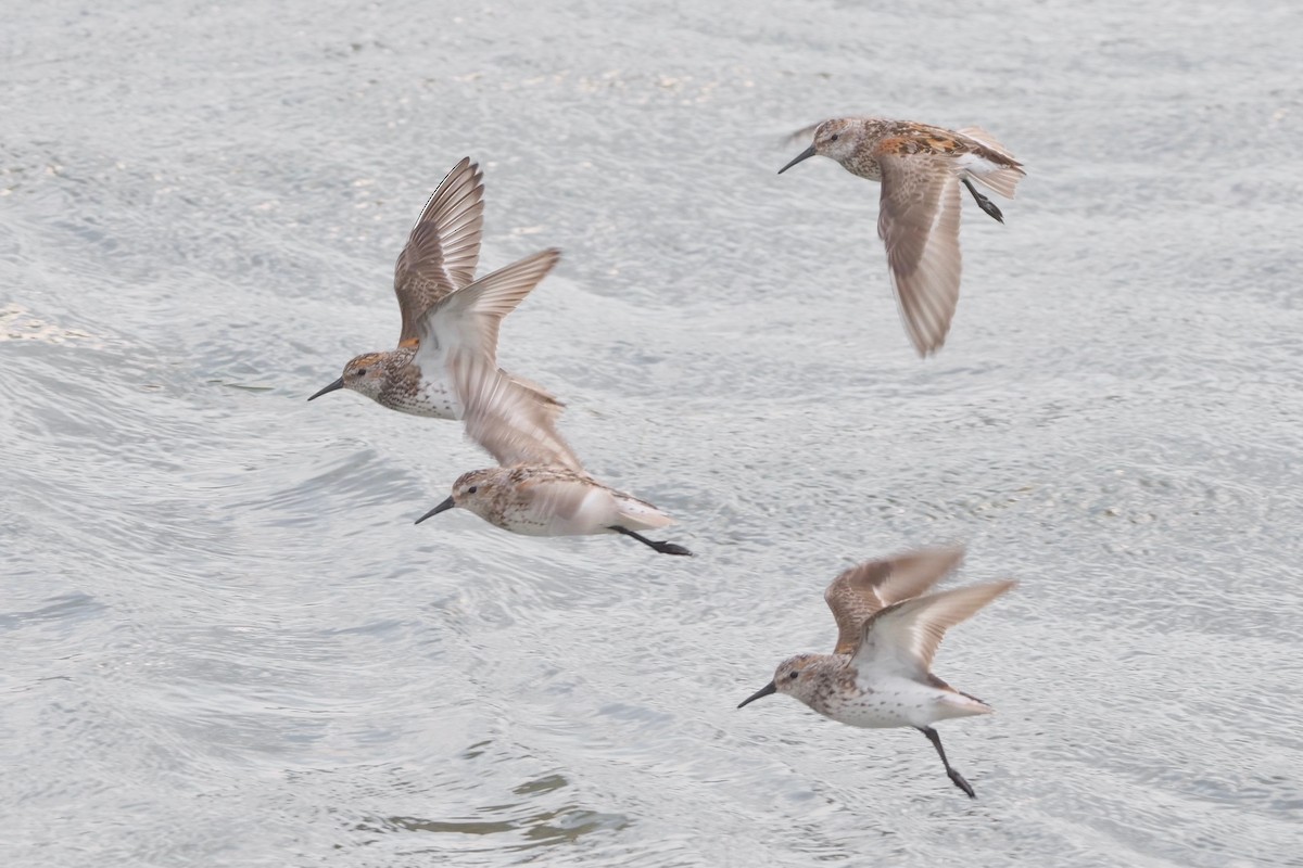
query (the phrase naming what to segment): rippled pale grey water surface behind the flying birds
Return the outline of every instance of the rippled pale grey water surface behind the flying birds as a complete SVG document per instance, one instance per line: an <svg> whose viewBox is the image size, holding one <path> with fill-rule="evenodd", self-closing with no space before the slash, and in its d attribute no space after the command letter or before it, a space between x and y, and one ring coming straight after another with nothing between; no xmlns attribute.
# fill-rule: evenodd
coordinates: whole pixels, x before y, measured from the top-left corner
<svg viewBox="0 0 1303 868"><path fill-rule="evenodd" d="M1291 4L280 8L0 30L8 864L1303 864ZM1028 167L932 360L877 189L775 174L844 112ZM466 154L483 267L566 251L504 366L700 557L413 527L460 428L305 401ZM946 540L1023 580L938 657L976 802L734 708Z"/></svg>

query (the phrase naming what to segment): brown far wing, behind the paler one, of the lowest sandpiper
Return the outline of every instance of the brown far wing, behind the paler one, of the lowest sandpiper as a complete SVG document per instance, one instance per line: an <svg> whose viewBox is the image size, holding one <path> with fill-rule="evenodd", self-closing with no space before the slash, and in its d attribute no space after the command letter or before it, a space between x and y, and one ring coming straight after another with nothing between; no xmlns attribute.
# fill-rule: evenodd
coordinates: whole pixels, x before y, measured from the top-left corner
<svg viewBox="0 0 1303 868"><path fill-rule="evenodd" d="M919 549L852 566L823 592L837 619L833 653L855 653L864 623L881 609L916 597L951 573L964 557L963 547Z"/></svg>

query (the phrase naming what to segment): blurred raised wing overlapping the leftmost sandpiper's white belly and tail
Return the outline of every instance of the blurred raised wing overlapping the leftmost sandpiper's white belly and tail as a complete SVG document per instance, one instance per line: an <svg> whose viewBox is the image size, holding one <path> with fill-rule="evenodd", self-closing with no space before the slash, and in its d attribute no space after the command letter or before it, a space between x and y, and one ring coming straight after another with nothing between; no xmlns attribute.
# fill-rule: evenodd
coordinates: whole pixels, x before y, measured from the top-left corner
<svg viewBox="0 0 1303 868"><path fill-rule="evenodd" d="M450 372L464 407L466 436L499 465L547 465L584 471L579 457L556 431L560 405L516 383L481 355L455 355Z"/></svg>

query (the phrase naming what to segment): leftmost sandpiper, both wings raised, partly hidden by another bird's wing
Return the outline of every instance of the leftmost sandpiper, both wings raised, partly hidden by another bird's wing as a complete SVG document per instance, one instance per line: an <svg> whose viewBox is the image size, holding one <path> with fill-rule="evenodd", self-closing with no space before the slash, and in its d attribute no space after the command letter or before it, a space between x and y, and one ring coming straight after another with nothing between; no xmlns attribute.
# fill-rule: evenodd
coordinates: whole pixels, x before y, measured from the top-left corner
<svg viewBox="0 0 1303 868"><path fill-rule="evenodd" d="M448 383L444 340L469 342L490 360L498 354L498 325L555 264L555 250L536 254L472 286L483 226L483 176L463 157L439 183L417 217L394 267L394 292L403 329L396 349L364 353L309 401L352 389L377 403L437 419L460 419L461 403ZM474 299L474 301L472 301ZM521 380L547 402L555 398Z"/></svg>

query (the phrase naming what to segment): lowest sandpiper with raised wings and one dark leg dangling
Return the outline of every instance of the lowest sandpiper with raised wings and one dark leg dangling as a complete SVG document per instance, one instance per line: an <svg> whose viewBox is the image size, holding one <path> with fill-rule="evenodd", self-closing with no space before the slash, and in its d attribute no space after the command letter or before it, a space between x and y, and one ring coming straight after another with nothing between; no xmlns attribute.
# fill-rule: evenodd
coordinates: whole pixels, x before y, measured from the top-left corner
<svg viewBox="0 0 1303 868"><path fill-rule="evenodd" d="M947 627L1016 583L992 582L921 596L954 570L963 554L963 548L921 549L865 561L842 573L823 592L837 619L833 653L784 660L774 679L737 708L770 694L790 694L851 726L912 726L937 748L954 785L976 798L968 781L950 766L932 724L994 709L933 675L932 658Z"/></svg>

